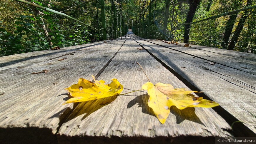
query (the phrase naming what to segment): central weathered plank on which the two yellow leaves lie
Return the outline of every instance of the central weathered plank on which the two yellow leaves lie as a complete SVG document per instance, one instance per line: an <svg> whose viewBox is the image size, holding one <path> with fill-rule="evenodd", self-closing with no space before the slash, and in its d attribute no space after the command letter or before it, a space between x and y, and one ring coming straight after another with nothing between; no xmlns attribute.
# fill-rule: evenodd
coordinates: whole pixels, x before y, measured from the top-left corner
<svg viewBox="0 0 256 144"><path fill-rule="evenodd" d="M123 93L141 89L147 78L139 71L140 68L136 64L139 62L152 83L170 83L176 88L187 88L149 53L138 50L139 47L135 41L127 38L117 56L98 79L109 83L112 78L117 78L126 88ZM113 102L109 99L99 99L79 103L59 129L59 143L121 143L124 139L129 140L129 143L175 139L175 143L178 143L180 140L187 141L195 137L198 143L200 140L213 143L214 136L230 135L226 131L231 129L230 126L211 108L178 110L173 106L166 123L162 125L147 106L148 95L145 92L139 91L128 95L114 97ZM103 105L106 101L110 104Z"/></svg>

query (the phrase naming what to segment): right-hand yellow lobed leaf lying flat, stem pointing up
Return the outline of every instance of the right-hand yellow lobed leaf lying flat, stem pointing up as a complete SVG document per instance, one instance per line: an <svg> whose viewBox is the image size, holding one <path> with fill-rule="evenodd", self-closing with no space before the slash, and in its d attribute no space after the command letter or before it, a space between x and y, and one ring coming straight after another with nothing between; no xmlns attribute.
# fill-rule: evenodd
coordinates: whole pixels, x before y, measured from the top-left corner
<svg viewBox="0 0 256 144"><path fill-rule="evenodd" d="M205 100L202 97L195 97L186 88L174 88L170 84L147 82L142 85L149 95L148 106L152 108L160 123L164 124L170 113L170 107L176 106L182 110L188 107L212 108L219 106L218 103ZM192 95L192 96L191 96Z"/></svg>

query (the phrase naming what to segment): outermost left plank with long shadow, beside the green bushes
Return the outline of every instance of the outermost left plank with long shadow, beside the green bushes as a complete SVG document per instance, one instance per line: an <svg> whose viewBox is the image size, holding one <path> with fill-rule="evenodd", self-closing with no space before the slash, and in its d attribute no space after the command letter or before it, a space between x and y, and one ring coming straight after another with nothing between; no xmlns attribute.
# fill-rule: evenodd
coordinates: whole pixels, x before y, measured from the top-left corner
<svg viewBox="0 0 256 144"><path fill-rule="evenodd" d="M106 41L109 42L109 41ZM59 58L61 56L74 54L77 51L82 51L88 47L94 47L104 44L104 41L99 41L96 43L87 43L83 45L70 46L65 48L60 48L60 50L45 50L45 51L34 51L31 53L21 53L11 56L0 57L0 67L4 69L18 68L30 66L31 64L38 63L41 61L48 61L54 58Z"/></svg>

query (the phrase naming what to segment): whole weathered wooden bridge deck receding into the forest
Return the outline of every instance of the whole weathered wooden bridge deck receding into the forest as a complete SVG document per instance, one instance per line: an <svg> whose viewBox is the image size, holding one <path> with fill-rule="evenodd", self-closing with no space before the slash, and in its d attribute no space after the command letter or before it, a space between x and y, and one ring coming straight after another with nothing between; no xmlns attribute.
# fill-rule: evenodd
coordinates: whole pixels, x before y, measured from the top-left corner
<svg viewBox="0 0 256 144"><path fill-rule="evenodd" d="M138 48L144 48L142 50ZM62 61L59 59L67 58ZM214 65L208 63L213 62ZM215 108L171 107L161 124L147 107L147 94L62 105L64 88L91 75L123 93L147 78L204 91ZM216 136L255 136L255 54L147 40L131 31L112 41L0 58L0 143L215 143ZM42 70L47 73L30 74ZM232 128L231 124L235 121Z"/></svg>

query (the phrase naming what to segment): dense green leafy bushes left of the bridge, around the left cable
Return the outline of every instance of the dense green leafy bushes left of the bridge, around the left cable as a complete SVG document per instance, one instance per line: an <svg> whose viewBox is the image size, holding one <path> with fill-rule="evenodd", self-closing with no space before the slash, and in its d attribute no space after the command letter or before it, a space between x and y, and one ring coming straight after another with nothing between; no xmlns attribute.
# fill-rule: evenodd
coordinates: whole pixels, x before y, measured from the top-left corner
<svg viewBox="0 0 256 144"><path fill-rule="evenodd" d="M77 22L66 19L63 16L58 16L26 4L15 2L17 5L13 5L11 4L13 2L0 2L0 4L6 6L0 9L6 12L3 17L0 16L0 20L4 21L0 21L0 56L41 51L54 46L74 46L91 41L92 34L89 33L90 29L87 27L81 26ZM47 1L31 0L31 2L45 7L48 7L47 4L49 4ZM49 6L53 7L54 5L49 4ZM14 9L18 12L13 14L11 11ZM19 9L23 9L23 11ZM11 16L7 16L7 13L11 14ZM13 17L13 19L8 21L8 19L5 19L5 16ZM63 20L67 23L64 23ZM43 26L49 33L48 38ZM99 40L97 35L93 37Z"/></svg>

